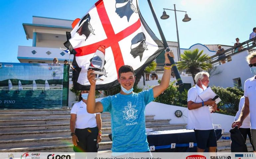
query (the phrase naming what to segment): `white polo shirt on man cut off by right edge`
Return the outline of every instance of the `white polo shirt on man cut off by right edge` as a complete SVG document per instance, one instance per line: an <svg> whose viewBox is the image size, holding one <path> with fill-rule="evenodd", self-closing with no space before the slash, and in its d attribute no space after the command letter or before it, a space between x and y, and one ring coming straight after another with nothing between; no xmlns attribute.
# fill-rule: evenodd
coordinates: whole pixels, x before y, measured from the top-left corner
<svg viewBox="0 0 256 159"><path fill-rule="evenodd" d="M256 76L244 82L244 96L249 99L251 129L256 129Z"/></svg>

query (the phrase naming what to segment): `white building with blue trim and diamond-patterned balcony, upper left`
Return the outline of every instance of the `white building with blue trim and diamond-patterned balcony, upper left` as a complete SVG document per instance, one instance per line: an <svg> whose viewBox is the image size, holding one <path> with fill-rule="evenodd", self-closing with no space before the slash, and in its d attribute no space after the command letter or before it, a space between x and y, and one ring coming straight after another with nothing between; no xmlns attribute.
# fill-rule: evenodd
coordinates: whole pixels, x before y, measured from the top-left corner
<svg viewBox="0 0 256 159"><path fill-rule="evenodd" d="M66 32L72 30L72 20L33 16L32 24L23 23L27 39L33 39L32 46L18 47L18 60L21 63L52 63L54 58L59 63L72 62L73 55L60 48L64 47ZM70 57L69 57L70 55Z"/></svg>

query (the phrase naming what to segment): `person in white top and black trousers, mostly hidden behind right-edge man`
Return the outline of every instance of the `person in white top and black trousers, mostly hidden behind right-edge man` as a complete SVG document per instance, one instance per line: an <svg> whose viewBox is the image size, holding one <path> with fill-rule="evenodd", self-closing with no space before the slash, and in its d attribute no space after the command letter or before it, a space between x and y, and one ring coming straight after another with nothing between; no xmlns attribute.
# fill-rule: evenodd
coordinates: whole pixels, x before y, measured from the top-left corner
<svg viewBox="0 0 256 159"><path fill-rule="evenodd" d="M236 121L236 120L239 118L239 116L240 116L240 113L241 113L242 108L243 108L243 106L244 106L244 100L245 100L245 97L242 96L242 97L240 98L238 111L237 111L237 113L236 113L236 116L235 116L234 121ZM250 124L250 114L249 114L249 115L244 119L243 125L242 125L238 130L239 130L239 131L241 132L241 134L243 135L245 143L246 143L246 138L247 138L247 135L248 135L248 137L249 137L249 139L250 139L250 142L251 142L251 144L252 144L252 135L251 135L251 131L250 131L250 126L251 126L251 124ZM255 148L254 148L253 144L252 144L252 148L253 148L253 151L255 151Z"/></svg>

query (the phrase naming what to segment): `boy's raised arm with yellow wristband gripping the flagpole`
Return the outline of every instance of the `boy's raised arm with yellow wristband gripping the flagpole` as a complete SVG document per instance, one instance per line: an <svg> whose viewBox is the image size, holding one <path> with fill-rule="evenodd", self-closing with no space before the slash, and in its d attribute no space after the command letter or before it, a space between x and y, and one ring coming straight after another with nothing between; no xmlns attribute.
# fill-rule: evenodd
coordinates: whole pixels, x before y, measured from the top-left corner
<svg viewBox="0 0 256 159"><path fill-rule="evenodd" d="M171 51L166 52L165 53L165 63L166 64L170 64L170 60L168 59L168 56L167 56L168 54L174 58L173 52L171 52ZM159 96L163 91L165 91L168 88L170 79L171 79L171 66L165 66L161 83L159 85L153 87L154 98Z"/></svg>

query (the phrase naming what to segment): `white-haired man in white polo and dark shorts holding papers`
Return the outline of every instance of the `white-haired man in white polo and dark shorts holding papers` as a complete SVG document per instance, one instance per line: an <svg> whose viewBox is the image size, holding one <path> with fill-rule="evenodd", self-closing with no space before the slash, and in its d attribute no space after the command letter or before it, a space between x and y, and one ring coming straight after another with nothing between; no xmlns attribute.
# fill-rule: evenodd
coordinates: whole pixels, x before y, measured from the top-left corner
<svg viewBox="0 0 256 159"><path fill-rule="evenodd" d="M209 106L212 106L212 110L215 112L217 105L211 98L203 101L199 97L199 94L207 88L210 82L209 74L199 72L194 79L196 85L188 91L188 129L193 129L195 132L197 152L204 152L207 147L209 152L215 152L217 140Z"/></svg>

